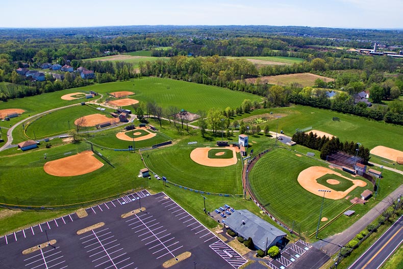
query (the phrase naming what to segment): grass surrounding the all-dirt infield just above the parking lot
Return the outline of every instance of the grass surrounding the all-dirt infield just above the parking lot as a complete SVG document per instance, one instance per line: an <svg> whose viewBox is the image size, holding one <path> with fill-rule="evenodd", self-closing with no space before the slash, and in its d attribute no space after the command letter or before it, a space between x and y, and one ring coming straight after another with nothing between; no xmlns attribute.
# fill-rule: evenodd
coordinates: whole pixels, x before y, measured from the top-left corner
<svg viewBox="0 0 403 269"><path fill-rule="evenodd" d="M139 169L144 168L139 155L129 152L102 151L116 168L98 158L104 166L89 174L56 177L44 172L45 153L50 161L71 156L88 148L84 142L51 149L42 146L40 150L1 158L0 202L34 206L74 204L147 187L148 179L137 177ZM64 155L68 152L71 154Z"/></svg>

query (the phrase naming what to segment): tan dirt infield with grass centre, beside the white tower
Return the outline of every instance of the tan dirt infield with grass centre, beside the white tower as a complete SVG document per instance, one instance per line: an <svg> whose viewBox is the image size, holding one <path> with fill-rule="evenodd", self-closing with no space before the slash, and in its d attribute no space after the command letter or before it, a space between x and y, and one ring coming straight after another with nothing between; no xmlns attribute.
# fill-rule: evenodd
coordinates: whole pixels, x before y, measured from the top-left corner
<svg viewBox="0 0 403 269"><path fill-rule="evenodd" d="M209 156L209 151L212 149L229 149L233 151L233 157L231 159L210 159ZM233 164L236 164L238 159L237 159L237 151L236 149L232 146L225 146L225 147L220 147L220 148L196 148L190 153L190 158L201 165L205 166L212 166L212 167L225 167L225 166L230 166Z"/></svg>

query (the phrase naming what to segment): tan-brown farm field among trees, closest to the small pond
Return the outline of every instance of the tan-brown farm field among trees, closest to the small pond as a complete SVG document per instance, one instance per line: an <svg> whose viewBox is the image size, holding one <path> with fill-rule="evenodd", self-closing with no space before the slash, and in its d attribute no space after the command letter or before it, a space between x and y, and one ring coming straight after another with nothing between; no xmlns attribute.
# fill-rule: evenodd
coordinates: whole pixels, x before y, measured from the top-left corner
<svg viewBox="0 0 403 269"><path fill-rule="evenodd" d="M310 73L299 73L278 76L261 77L261 83L269 83L281 86L289 86L291 83L298 83L302 87L314 86L315 80L321 79L324 82L334 81L334 79L318 76ZM255 83L256 79L247 79L249 83Z"/></svg>

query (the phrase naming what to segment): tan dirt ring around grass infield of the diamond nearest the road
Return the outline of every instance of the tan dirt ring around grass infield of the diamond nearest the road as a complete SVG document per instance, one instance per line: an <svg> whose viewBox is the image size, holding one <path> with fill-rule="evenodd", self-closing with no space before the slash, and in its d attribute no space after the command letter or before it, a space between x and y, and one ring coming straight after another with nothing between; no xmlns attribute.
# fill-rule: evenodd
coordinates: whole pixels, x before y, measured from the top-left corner
<svg viewBox="0 0 403 269"><path fill-rule="evenodd" d="M329 187L323 186L322 184L319 184L316 179L323 177L326 174L333 174L337 175L339 177L345 178L349 181L352 182L351 187L346 189L345 191L336 191L333 190ZM325 198L328 199L333 199L333 200L338 200L344 198L350 191L354 190L356 187L365 187L367 185L366 182L356 179L349 179L347 177L344 177L340 173L334 172L333 170L322 167L322 166L311 166L305 170L303 170L301 173L298 175L298 183L306 190L309 192L312 192L313 194L316 194L318 196L323 196L323 192L318 191L318 189L325 189L325 190L331 190L332 192L327 192L325 195Z"/></svg>

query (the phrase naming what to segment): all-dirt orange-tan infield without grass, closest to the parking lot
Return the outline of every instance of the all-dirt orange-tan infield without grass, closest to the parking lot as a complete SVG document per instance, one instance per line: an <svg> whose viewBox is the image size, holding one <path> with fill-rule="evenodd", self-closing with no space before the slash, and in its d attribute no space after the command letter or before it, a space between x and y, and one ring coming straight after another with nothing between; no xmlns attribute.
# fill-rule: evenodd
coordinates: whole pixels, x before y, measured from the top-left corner
<svg viewBox="0 0 403 269"><path fill-rule="evenodd" d="M84 151L76 155L45 163L43 169L56 177L72 177L91 173L104 164L94 156L92 151Z"/></svg>

